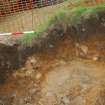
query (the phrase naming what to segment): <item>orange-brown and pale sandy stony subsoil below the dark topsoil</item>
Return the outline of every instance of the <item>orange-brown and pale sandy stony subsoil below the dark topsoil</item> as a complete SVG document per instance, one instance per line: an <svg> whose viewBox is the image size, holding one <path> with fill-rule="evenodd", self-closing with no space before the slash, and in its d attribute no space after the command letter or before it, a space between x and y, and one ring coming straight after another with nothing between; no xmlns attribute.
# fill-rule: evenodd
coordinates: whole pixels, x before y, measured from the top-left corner
<svg viewBox="0 0 105 105"><path fill-rule="evenodd" d="M93 36L30 56L0 84L0 105L104 105L105 37Z"/></svg>

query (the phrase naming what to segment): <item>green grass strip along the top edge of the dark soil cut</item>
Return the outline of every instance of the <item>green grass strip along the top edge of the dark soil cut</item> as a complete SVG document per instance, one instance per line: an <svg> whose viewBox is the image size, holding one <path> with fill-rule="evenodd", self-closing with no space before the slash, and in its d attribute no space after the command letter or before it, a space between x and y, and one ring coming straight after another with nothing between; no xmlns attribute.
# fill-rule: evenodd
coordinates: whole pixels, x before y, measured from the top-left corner
<svg viewBox="0 0 105 105"><path fill-rule="evenodd" d="M69 0L67 0L68 2ZM97 16L99 11L105 11L105 4L95 5L93 7L79 6L70 9L69 7L62 7L57 11L47 22L39 25L34 34L27 34L19 40L21 42L27 42L35 37L43 35L43 33L55 23L64 23L66 25L77 26L81 22L81 17L87 18L90 16Z"/></svg>

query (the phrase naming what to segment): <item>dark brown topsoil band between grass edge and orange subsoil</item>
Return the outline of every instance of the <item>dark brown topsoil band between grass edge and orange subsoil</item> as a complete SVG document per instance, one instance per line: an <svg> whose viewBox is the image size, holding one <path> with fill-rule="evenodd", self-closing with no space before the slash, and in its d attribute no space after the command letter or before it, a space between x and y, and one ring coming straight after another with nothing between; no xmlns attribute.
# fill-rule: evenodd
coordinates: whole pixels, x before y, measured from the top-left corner
<svg viewBox="0 0 105 105"><path fill-rule="evenodd" d="M59 43L65 38L72 41L74 48L74 50L71 49L72 57L76 56L75 45L77 43L83 45L94 38L96 42L98 40L100 46L100 42L104 42L105 39L105 12L99 12L97 15L98 18L82 19L81 24L78 24L76 28L74 26L67 26L66 30L64 30L65 27L61 23L57 23L51 26L42 37L35 38L25 44L14 40L10 41L10 44L0 43L0 82L5 80L8 73L22 67L29 56L38 53L53 53L57 46L59 46ZM105 43L103 44L105 45ZM91 47L91 45L88 47ZM98 50L103 50L104 52L105 46L99 48ZM53 57L55 57L54 53Z"/></svg>

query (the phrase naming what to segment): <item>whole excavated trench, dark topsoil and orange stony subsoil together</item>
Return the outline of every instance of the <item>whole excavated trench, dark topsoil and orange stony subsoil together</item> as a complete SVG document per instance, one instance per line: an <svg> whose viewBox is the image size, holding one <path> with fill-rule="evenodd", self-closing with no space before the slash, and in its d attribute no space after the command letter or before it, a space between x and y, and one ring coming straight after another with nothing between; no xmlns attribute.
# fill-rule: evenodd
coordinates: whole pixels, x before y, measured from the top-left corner
<svg viewBox="0 0 105 105"><path fill-rule="evenodd" d="M105 12L41 38L0 44L0 104L104 105ZM8 61L8 63L7 63Z"/></svg>

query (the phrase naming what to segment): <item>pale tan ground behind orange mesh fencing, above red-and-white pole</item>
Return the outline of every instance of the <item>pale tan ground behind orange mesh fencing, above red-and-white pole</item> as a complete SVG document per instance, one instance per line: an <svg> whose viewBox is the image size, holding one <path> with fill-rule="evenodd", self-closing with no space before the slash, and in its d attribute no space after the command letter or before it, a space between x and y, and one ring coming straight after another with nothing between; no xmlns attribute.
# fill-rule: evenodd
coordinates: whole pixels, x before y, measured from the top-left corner
<svg viewBox="0 0 105 105"><path fill-rule="evenodd" d="M56 13L56 10L66 5L66 3L58 3L43 8L20 12L15 11L16 13L14 14L7 13L7 16L0 17L0 32L36 31L39 25L46 23L46 21Z"/></svg>

